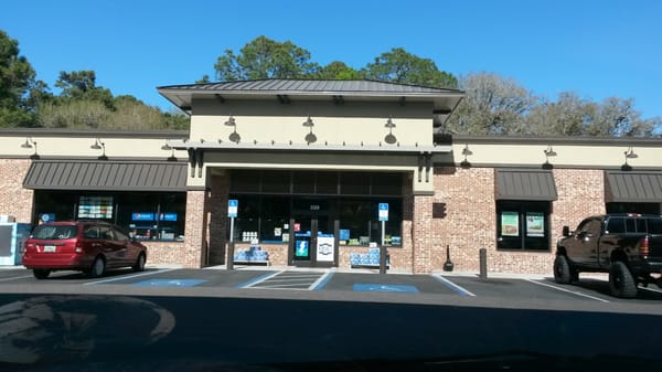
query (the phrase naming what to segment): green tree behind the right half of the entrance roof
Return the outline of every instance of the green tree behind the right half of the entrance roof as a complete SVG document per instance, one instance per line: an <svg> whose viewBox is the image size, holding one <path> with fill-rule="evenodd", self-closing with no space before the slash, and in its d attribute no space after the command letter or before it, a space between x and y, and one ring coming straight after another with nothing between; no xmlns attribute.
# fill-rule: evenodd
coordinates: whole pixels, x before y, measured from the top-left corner
<svg viewBox="0 0 662 372"><path fill-rule="evenodd" d="M407 53L402 47L394 47L382 53L374 63L363 70L365 77L381 82L415 84L441 88L457 88L457 78L439 71L430 59L421 59Z"/></svg>

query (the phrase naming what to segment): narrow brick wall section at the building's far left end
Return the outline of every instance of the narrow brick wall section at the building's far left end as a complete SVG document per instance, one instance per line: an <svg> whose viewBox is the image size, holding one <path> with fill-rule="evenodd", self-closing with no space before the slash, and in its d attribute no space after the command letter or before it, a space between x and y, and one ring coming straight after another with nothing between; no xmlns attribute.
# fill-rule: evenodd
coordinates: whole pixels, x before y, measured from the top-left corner
<svg viewBox="0 0 662 372"><path fill-rule="evenodd" d="M13 215L17 222L32 222L34 192L23 189L31 163L29 159L0 159L0 214Z"/></svg>

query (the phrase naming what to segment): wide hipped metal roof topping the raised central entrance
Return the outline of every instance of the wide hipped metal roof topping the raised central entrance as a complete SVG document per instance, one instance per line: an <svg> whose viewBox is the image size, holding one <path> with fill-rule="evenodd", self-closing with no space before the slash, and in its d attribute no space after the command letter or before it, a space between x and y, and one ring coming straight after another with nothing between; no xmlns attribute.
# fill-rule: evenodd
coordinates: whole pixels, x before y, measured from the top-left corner
<svg viewBox="0 0 662 372"><path fill-rule="evenodd" d="M193 96L212 96L220 102L277 97L290 99L329 99L339 104L346 98L394 99L397 102L431 102L435 109L451 111L465 93L458 89L426 87L376 81L258 79L157 87L178 107L191 109ZM448 114L447 113L447 114Z"/></svg>

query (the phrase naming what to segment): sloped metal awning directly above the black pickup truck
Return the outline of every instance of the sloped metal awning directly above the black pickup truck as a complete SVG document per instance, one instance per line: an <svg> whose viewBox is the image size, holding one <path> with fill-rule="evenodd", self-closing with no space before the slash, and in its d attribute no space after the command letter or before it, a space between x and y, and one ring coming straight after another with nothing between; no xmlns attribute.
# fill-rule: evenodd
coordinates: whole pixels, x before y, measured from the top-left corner
<svg viewBox="0 0 662 372"><path fill-rule="evenodd" d="M662 203L662 172L605 171L607 202Z"/></svg>

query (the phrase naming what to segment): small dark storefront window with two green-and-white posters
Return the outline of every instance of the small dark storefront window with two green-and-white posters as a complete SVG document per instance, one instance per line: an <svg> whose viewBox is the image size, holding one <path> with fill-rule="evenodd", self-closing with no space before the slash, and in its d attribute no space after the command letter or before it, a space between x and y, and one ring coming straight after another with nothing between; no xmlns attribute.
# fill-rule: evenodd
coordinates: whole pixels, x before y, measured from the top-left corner
<svg viewBox="0 0 662 372"><path fill-rule="evenodd" d="M496 202L499 249L549 249L549 202Z"/></svg>

